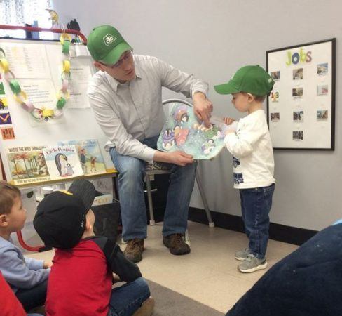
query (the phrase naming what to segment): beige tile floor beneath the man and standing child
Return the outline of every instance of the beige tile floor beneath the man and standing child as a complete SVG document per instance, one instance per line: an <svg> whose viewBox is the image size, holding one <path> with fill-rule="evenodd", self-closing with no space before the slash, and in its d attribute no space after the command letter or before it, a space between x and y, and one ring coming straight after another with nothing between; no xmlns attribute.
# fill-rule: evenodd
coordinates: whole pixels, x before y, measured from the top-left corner
<svg viewBox="0 0 342 316"><path fill-rule="evenodd" d="M240 232L189 222L191 254L173 256L163 246L161 230L161 223L149 226L146 250L139 263L142 275L220 312L231 308L266 271L238 272L235 251L247 246L247 237ZM270 240L268 268L296 248L292 244ZM27 255L51 260L53 251Z"/></svg>

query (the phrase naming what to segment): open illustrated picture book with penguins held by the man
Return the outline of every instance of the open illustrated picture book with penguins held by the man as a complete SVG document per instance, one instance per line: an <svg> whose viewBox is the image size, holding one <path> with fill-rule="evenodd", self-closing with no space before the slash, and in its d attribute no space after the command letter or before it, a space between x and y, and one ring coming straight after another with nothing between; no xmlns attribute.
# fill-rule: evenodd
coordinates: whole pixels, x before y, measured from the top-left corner
<svg viewBox="0 0 342 316"><path fill-rule="evenodd" d="M175 103L158 138L158 150L173 152L181 150L193 155L193 159L212 159L224 147L224 133L211 124L200 124L193 108Z"/></svg>

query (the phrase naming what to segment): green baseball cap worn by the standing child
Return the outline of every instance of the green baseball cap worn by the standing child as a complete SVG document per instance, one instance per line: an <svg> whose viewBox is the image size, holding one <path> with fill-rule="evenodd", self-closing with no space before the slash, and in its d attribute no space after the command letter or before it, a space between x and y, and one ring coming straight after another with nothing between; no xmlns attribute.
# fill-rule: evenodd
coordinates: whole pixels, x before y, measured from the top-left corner
<svg viewBox="0 0 342 316"><path fill-rule="evenodd" d="M240 68L227 84L219 84L214 89L219 94L238 92L252 93L255 96L266 96L273 88L271 76L259 65Z"/></svg>

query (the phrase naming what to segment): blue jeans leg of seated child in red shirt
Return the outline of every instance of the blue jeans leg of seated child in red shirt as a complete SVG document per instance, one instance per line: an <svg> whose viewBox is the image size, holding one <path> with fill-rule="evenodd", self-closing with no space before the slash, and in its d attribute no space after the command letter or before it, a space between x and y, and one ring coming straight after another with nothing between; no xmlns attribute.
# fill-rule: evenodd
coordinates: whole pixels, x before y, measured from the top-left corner
<svg viewBox="0 0 342 316"><path fill-rule="evenodd" d="M108 316L130 316L151 296L149 285L139 277L111 291Z"/></svg>

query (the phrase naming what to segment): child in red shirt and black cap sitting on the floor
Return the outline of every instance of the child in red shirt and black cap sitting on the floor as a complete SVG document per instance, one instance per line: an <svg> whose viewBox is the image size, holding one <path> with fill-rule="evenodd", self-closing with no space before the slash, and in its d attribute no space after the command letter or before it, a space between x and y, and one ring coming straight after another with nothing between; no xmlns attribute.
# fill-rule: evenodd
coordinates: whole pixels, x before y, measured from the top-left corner
<svg viewBox="0 0 342 316"><path fill-rule="evenodd" d="M75 180L38 206L34 228L56 248L46 315L151 315L154 301L137 265L107 237L94 235L95 192L89 181ZM113 272L127 283L112 289Z"/></svg>

